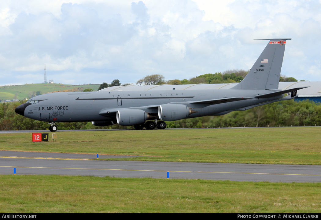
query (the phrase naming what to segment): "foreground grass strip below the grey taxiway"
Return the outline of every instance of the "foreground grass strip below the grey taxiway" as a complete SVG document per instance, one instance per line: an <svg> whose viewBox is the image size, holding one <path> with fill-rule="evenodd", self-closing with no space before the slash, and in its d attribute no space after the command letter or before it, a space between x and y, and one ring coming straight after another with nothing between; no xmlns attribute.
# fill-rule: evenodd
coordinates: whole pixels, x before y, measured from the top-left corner
<svg viewBox="0 0 321 220"><path fill-rule="evenodd" d="M1 175L2 213L320 213L321 184Z"/></svg>

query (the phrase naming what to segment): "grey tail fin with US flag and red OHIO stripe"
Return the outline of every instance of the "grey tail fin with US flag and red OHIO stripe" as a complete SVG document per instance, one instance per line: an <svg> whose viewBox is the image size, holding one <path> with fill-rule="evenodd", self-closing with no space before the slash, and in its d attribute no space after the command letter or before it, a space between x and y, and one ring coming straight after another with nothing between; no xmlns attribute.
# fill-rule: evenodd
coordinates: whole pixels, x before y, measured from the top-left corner
<svg viewBox="0 0 321 220"><path fill-rule="evenodd" d="M270 42L256 60L246 77L231 89L265 90L278 89L286 40L264 39Z"/></svg>

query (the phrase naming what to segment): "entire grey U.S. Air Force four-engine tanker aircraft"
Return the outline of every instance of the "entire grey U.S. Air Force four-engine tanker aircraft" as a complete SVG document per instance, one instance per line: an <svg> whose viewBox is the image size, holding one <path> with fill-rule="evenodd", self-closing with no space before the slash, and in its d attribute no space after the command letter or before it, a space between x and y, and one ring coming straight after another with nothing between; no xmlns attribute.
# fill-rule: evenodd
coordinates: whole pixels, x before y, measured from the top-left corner
<svg viewBox="0 0 321 220"><path fill-rule="evenodd" d="M279 90L287 40L269 40L246 77L230 89L213 89L215 84L115 86L96 92L55 92L30 98L15 112L48 122L92 122L95 126L134 125L141 130L165 129L165 121L244 111L298 97L297 90ZM288 94L284 96L284 94Z"/></svg>

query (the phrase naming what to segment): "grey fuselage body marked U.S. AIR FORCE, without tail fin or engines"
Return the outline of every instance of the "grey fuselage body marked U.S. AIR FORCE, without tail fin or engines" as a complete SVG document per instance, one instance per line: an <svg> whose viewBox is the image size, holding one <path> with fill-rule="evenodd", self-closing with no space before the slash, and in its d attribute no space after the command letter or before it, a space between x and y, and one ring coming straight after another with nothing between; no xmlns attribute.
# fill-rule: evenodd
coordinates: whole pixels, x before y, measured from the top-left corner
<svg viewBox="0 0 321 220"><path fill-rule="evenodd" d="M36 96L24 109L24 116L46 122L79 122L79 121L112 121L113 114L118 109L142 109L147 113L157 114L158 106L163 104L184 104L193 108L196 113L187 118L205 115L219 115L234 110L241 110L282 98L279 95L271 98L254 98L256 95L266 94L267 90L167 90L167 91L98 91L98 92L55 92ZM193 104L192 101L222 99L231 97L251 97L251 99L220 103L215 105ZM26 105L24 104L24 105ZM29 104L29 105L28 105ZM245 109L242 109L245 110Z"/></svg>

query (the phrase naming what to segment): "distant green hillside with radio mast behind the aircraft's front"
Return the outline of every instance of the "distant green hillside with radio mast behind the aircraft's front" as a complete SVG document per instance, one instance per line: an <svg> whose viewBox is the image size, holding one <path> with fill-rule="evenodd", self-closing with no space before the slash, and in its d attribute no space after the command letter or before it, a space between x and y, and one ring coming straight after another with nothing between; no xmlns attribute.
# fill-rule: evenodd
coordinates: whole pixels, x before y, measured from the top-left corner
<svg viewBox="0 0 321 220"><path fill-rule="evenodd" d="M100 84L91 85L64 85L60 83L36 83L36 84L24 84L24 85L10 85L0 86L0 100L10 99L25 99L30 95L36 94L40 91L41 94L54 92L54 91L82 91L84 89L93 89L97 91Z"/></svg>

